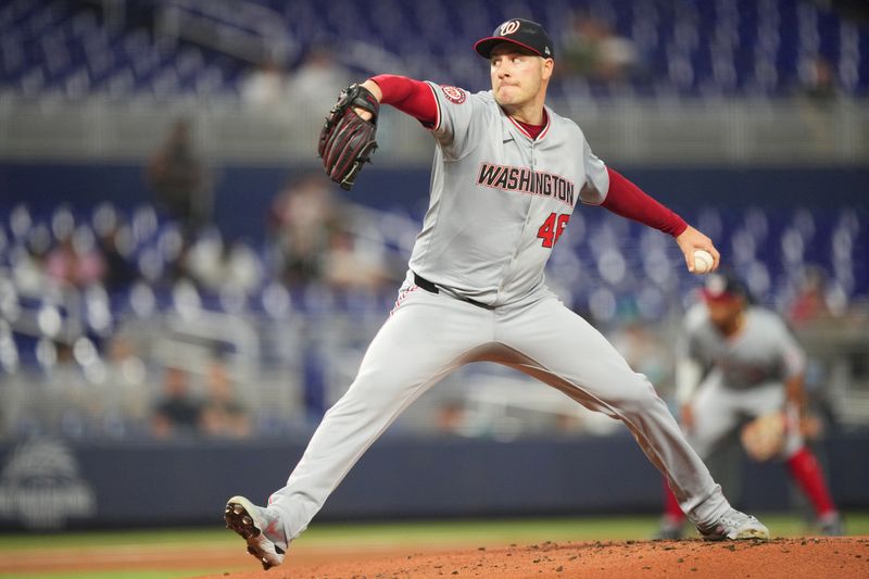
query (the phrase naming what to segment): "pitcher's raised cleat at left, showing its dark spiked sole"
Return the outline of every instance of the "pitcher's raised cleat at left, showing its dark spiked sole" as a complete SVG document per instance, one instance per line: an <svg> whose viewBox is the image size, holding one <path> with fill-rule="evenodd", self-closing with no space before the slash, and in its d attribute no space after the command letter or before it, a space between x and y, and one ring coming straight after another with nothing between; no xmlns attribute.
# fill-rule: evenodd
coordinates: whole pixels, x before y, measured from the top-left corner
<svg viewBox="0 0 869 579"><path fill-rule="evenodd" d="M226 528L248 542L248 553L268 570L284 563L287 539L280 520L243 496L232 496L224 509Z"/></svg>

